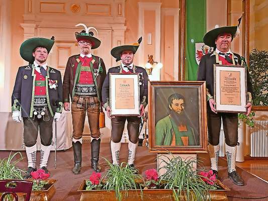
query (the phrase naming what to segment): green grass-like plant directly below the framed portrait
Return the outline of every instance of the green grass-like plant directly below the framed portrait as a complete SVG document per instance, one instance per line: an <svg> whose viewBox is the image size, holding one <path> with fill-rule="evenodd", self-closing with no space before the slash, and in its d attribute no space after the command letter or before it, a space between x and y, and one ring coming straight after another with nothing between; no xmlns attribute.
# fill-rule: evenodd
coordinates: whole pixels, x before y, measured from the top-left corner
<svg viewBox="0 0 268 201"><path fill-rule="evenodd" d="M183 160L181 157L167 157L160 159L163 166L160 169L165 169L166 172L160 176L159 183L164 185L165 189L172 189L175 200L181 200L184 197L186 200L204 201L209 197L209 185L201 179L198 174L199 169L193 170L197 160L187 158Z"/></svg>

